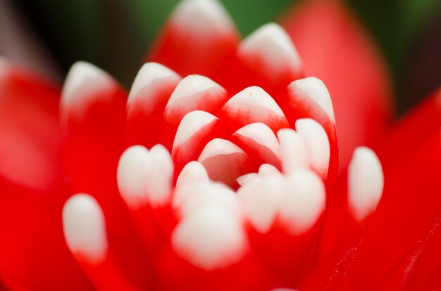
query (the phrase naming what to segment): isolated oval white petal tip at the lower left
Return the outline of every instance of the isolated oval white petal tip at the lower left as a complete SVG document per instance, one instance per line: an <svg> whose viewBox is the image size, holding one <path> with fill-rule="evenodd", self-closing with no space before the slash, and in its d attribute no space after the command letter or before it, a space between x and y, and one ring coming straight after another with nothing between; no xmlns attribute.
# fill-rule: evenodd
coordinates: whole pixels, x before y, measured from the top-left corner
<svg viewBox="0 0 441 291"><path fill-rule="evenodd" d="M70 252L100 264L106 259L108 243L104 214L97 200L76 194L63 207L63 232Z"/></svg>

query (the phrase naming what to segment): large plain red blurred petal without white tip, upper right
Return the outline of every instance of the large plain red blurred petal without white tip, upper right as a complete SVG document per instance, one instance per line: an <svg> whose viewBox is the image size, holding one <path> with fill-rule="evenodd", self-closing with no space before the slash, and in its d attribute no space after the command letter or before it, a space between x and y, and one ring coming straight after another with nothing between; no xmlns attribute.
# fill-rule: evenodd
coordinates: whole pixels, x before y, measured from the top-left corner
<svg viewBox="0 0 441 291"><path fill-rule="evenodd" d="M390 81L378 52L342 1L304 1L282 20L304 61L333 98L341 167L390 122Z"/></svg>

